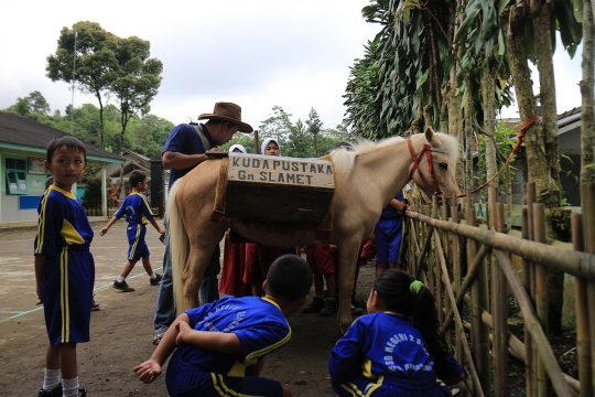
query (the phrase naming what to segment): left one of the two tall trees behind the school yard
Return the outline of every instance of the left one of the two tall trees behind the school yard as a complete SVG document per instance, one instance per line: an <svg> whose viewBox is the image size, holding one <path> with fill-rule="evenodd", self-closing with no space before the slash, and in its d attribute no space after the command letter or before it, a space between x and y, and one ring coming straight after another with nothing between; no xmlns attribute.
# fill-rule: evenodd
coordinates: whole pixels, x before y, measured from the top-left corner
<svg viewBox="0 0 595 397"><path fill-rule="evenodd" d="M75 37L76 34L76 37ZM76 53L75 53L76 40ZM69 83L73 64L76 61L74 81L84 93L95 95L99 101L99 139L104 148L104 95L117 78L117 37L104 30L97 22L77 22L73 29L63 28L54 55L47 56L46 76L53 82Z"/></svg>

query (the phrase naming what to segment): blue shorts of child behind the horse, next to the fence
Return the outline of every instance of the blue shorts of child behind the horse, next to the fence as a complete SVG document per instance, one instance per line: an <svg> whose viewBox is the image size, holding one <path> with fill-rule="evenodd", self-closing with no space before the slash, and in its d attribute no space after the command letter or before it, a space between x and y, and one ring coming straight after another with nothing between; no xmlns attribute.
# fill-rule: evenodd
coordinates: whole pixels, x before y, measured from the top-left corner
<svg viewBox="0 0 595 397"><path fill-rule="evenodd" d="M376 225L376 262L403 264L403 219L379 219Z"/></svg>

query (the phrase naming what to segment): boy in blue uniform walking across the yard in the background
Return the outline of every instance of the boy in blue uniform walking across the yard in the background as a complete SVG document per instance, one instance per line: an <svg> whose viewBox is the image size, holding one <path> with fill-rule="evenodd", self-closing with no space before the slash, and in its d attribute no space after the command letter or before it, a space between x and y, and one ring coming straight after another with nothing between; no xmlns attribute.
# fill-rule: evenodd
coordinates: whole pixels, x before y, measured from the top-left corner
<svg viewBox="0 0 595 397"><path fill-rule="evenodd" d="M147 174L142 171L134 170L130 173L128 180L130 182L132 192L125 198L122 205L116 212L116 214L113 214L113 217L109 219L106 227L99 232L99 236L104 236L111 225L126 215L126 222L128 222L127 236L129 244L128 261L126 262L118 279L113 281L112 286L113 288L123 292L134 291L133 288L128 286L126 278L128 275L130 275L130 271L132 271L139 259L142 260L142 267L144 268L144 271L147 271L147 275L149 275L151 286L159 285L159 281L161 281L161 275L153 272L153 268L151 267L151 261L149 259L149 255L151 255L151 253L149 253L149 247L147 247L147 243L144 242L144 235L147 234L147 226L144 225L150 222L159 234L163 236L165 233L165 230L158 225L155 218L153 217L153 213L151 212L151 206L149 205L147 197L142 194L142 192L147 190Z"/></svg>

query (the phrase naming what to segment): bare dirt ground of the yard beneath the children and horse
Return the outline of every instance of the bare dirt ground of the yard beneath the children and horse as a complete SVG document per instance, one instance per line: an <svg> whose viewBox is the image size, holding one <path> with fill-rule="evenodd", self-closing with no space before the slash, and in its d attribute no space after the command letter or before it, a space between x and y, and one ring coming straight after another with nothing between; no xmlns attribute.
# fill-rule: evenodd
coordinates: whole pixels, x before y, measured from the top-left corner
<svg viewBox="0 0 595 397"><path fill-rule="evenodd" d="M91 313L91 341L78 345L82 387L89 396L166 396L164 377L151 385L139 382L132 367L147 360L153 345L153 310L158 287L151 287L138 265L125 293L111 288L121 270L128 243L123 222L99 237L91 251L96 260L96 300ZM35 308L33 239L35 230L0 233L0 395L34 396L43 382L47 336L43 312ZM148 232L153 268L161 268L163 245L153 228ZM158 270L158 272L161 272ZM366 299L374 278L361 267L357 298ZM294 396L333 396L326 363L340 336L336 318L295 313L289 318L292 340L272 353L263 376L288 384Z"/></svg>

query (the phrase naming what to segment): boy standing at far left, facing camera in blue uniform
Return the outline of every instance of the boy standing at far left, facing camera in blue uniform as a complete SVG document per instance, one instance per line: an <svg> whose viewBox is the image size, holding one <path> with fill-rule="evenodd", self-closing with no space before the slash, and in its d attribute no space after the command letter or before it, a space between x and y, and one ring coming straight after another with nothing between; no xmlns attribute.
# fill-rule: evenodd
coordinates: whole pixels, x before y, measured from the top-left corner
<svg viewBox="0 0 595 397"><path fill-rule="evenodd" d="M54 139L44 167L54 181L37 207L34 254L37 304L43 304L50 342L37 397L84 397L86 390L78 388L76 344L90 340L95 261L89 251L93 228L71 190L87 168L85 146L71 136Z"/></svg>

